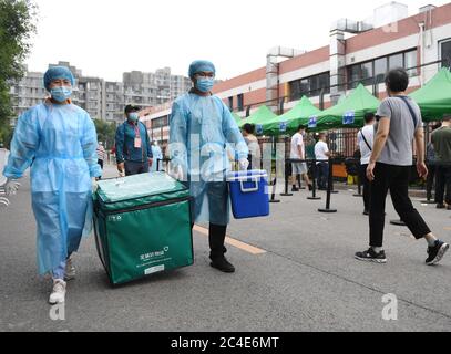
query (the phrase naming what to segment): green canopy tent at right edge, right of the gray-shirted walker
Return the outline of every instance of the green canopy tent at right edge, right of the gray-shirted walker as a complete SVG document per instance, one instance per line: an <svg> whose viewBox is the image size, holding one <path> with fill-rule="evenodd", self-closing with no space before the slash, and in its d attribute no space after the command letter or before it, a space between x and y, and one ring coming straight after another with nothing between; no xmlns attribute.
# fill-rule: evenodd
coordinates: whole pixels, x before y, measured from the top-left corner
<svg viewBox="0 0 451 354"><path fill-rule="evenodd" d="M423 122L441 121L451 114L451 72L442 67L424 86L410 95L421 108Z"/></svg>

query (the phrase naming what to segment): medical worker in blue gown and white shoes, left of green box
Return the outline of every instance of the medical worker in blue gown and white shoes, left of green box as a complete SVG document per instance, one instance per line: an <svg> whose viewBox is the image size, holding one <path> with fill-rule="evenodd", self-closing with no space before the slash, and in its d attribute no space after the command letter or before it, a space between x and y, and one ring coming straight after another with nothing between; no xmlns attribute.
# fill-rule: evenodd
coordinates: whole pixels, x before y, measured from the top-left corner
<svg viewBox="0 0 451 354"><path fill-rule="evenodd" d="M49 302L65 300L66 282L75 275L71 254L91 233L93 177L101 176L96 133L89 114L71 103L74 77L64 66L44 75L51 97L20 116L3 175L6 190L31 165L31 199L38 225L38 268L51 274Z"/></svg>

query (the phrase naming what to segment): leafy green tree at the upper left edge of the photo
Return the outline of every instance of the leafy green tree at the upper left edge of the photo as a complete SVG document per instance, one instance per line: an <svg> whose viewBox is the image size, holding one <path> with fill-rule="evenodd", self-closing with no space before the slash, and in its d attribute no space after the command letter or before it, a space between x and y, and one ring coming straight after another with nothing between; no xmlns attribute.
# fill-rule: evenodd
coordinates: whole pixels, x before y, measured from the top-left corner
<svg viewBox="0 0 451 354"><path fill-rule="evenodd" d="M0 0L0 142L7 145L12 135L10 86L23 76L37 10L31 0Z"/></svg>

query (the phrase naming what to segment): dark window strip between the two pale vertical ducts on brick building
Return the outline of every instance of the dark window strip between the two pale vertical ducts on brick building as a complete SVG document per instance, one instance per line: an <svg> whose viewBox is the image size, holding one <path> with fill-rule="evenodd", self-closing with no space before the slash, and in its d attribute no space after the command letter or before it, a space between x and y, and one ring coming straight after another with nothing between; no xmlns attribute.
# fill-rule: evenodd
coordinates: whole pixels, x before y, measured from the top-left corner
<svg viewBox="0 0 451 354"><path fill-rule="evenodd" d="M295 80L289 83L290 101L300 100L303 96L312 97L330 92L330 73L322 73L306 79Z"/></svg>

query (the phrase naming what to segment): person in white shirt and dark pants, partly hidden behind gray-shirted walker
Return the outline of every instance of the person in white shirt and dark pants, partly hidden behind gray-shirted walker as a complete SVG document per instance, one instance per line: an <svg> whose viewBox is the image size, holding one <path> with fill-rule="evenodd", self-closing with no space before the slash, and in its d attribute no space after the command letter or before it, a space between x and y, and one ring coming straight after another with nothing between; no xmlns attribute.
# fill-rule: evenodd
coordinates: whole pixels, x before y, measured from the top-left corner
<svg viewBox="0 0 451 354"><path fill-rule="evenodd" d="M359 169L359 178L363 185L363 215L370 214L370 187L371 184L367 178L367 168L370 162L371 153L372 153L372 145L375 143L375 114L367 113L365 115L365 126L362 129L359 131L357 134L357 142L360 147L360 169Z"/></svg>

